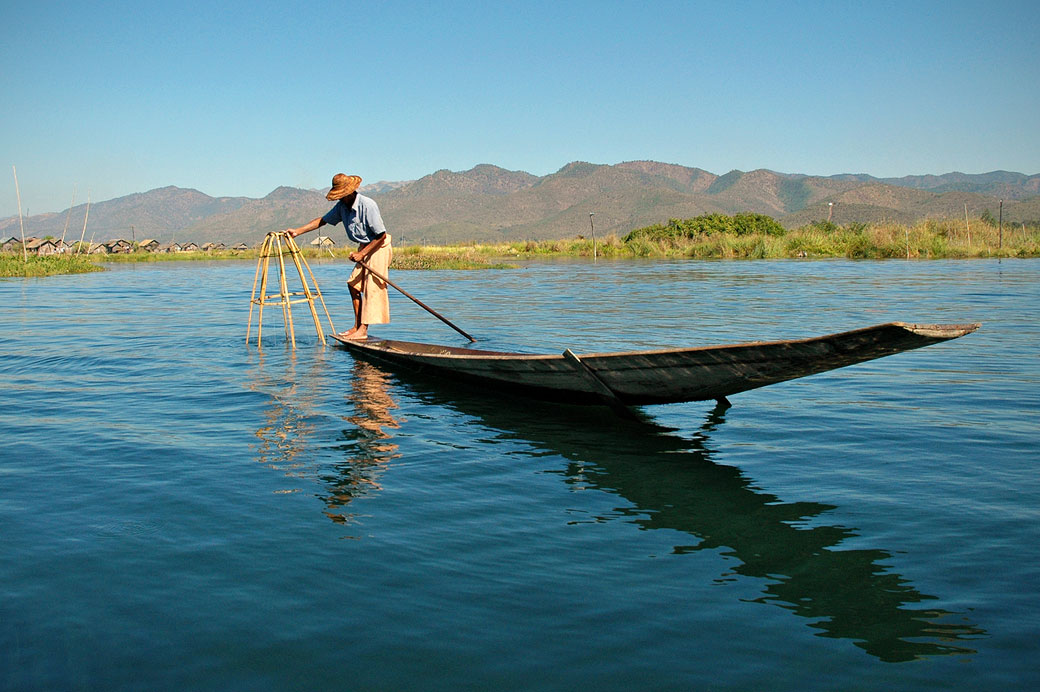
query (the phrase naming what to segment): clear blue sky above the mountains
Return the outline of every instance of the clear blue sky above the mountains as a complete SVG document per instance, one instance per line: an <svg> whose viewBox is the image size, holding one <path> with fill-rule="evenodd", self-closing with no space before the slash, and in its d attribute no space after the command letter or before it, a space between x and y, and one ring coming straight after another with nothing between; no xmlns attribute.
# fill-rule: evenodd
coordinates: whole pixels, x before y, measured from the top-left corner
<svg viewBox="0 0 1040 692"><path fill-rule="evenodd" d="M0 0L0 216L12 164L33 214L485 162L1040 173L1037 0Z"/></svg>

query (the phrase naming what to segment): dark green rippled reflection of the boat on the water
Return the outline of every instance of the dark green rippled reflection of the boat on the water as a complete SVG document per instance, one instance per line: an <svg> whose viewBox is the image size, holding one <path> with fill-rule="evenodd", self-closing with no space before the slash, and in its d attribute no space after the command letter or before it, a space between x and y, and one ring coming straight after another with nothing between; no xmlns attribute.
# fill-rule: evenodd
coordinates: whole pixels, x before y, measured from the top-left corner
<svg viewBox="0 0 1040 692"><path fill-rule="evenodd" d="M857 535L828 524L835 506L782 502L755 488L740 469L717 463L711 437L725 407L687 434L649 422L604 418L595 409L493 401L471 388L420 378L397 380L398 391L485 427L482 439L505 443L511 456L562 458L558 473L581 492L618 497L613 513L570 514L588 520L628 521L643 531L675 533L676 556L713 561L720 586L748 580L760 585L754 603L805 618L821 637L849 640L882 661L966 655L985 631L962 614L925 604L935 596L892 571L892 554L847 548ZM745 594L746 588L736 589ZM736 597L742 597L736 596Z"/></svg>

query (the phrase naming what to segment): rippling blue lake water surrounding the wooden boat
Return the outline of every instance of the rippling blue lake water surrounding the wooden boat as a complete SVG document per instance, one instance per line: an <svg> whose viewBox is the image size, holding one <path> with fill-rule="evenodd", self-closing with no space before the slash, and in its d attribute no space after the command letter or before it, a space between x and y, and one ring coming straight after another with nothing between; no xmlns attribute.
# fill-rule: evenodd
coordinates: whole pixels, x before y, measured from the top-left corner
<svg viewBox="0 0 1040 692"><path fill-rule="evenodd" d="M254 276L0 281L0 689L1040 684L1040 261L395 275L525 352L983 323L642 424L246 345Z"/></svg>

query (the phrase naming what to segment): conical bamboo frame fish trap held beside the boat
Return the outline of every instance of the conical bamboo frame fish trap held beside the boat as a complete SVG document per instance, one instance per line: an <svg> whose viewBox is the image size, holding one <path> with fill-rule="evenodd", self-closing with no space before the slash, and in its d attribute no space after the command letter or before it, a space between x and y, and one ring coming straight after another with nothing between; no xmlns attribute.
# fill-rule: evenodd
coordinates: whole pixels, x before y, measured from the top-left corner
<svg viewBox="0 0 1040 692"><path fill-rule="evenodd" d="M284 248L284 250L283 250ZM292 259L292 263L296 265L296 272L300 274L300 283L303 286L303 290L289 291L288 283L285 278L285 253L288 252L289 257ZM267 293L267 276L268 270L270 268L271 257L278 258L278 287L277 293ZM307 268L307 274L304 274L304 268ZM314 286L314 290L311 290L310 285L307 283L307 277L310 276L311 284ZM257 281L260 282L260 293L257 297ZM302 296L303 298L293 298L294 296ZM257 273L253 277L253 298L250 302L250 324L245 329L245 342L250 341L250 332L253 329L253 306L260 306L259 316L257 319L257 345L260 345L261 331L263 330L263 308L265 305L274 304L282 307L282 318L285 323L285 337L292 342L292 348L296 348L296 333L292 327L292 305L293 303L307 303L307 307L311 309L311 316L314 318L314 329L317 330L318 338L321 339L321 343L324 344L324 332L321 330L321 321L318 318L318 311L314 307L314 299L317 298L321 303L321 309L324 310L326 317L329 319L329 329L331 333L336 333L336 328L332 326L332 317L329 316L329 308L326 307L324 299L321 298L321 291L318 289L318 282L314 278L314 273L311 272L311 267L307 264L307 260L304 259L303 253L300 251L300 246L296 241L287 235L284 231L274 231L267 234L264 238L263 245L260 246L260 259L257 262Z"/></svg>

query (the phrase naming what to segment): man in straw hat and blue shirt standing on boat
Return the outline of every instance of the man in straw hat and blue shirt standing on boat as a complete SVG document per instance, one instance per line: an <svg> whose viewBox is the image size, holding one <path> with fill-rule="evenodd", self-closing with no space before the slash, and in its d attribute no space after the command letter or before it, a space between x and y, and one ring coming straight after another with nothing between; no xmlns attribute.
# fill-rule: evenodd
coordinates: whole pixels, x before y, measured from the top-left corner
<svg viewBox="0 0 1040 692"><path fill-rule="evenodd" d="M358 194L360 185L361 178L358 176L337 173L332 179L332 189L326 195L326 199L336 202L336 206L326 215L314 219L300 228L285 229L285 233L294 238L326 224L335 226L342 223L347 237L358 244L358 249L350 253L350 260L365 262L373 272L386 277L390 272L390 259L393 254L390 234L383 225L383 217L375 201ZM366 339L369 325L384 325L390 322L387 284L361 264L355 264L346 286L350 290L350 301L354 303L354 328L339 336L346 339Z"/></svg>

